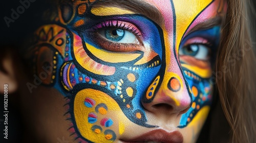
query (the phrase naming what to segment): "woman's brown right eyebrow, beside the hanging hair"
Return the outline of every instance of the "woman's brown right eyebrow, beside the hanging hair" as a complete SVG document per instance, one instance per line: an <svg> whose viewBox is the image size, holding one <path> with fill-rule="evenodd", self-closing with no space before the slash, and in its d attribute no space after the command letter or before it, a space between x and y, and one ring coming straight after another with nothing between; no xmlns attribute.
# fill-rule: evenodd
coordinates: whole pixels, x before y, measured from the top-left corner
<svg viewBox="0 0 256 143"><path fill-rule="evenodd" d="M206 30L206 29L210 29L215 26L220 26L222 24L222 21L223 21L223 17L221 17L221 16L216 16L214 18L204 20L204 21L198 23L194 28L189 30L186 35L194 32L194 31Z"/></svg>

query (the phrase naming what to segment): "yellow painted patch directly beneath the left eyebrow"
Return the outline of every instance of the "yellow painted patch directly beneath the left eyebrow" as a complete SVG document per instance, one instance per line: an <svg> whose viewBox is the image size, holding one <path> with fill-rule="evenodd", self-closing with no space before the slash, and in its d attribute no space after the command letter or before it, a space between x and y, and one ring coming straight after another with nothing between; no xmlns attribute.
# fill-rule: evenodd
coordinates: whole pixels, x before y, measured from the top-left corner
<svg viewBox="0 0 256 143"><path fill-rule="evenodd" d="M93 7L91 9L91 13L98 16L134 14L134 12L130 10L125 10L117 7Z"/></svg>

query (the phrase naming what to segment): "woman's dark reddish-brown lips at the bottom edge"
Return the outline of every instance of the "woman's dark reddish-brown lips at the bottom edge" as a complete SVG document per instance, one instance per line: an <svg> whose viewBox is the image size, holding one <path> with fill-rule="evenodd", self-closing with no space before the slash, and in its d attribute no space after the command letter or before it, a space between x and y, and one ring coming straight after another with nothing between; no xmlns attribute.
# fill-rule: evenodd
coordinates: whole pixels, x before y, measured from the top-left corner
<svg viewBox="0 0 256 143"><path fill-rule="evenodd" d="M183 142L183 136L179 131L166 132L158 129L147 132L133 139L122 140L122 143L136 143L136 142L165 142L165 143L180 143Z"/></svg>

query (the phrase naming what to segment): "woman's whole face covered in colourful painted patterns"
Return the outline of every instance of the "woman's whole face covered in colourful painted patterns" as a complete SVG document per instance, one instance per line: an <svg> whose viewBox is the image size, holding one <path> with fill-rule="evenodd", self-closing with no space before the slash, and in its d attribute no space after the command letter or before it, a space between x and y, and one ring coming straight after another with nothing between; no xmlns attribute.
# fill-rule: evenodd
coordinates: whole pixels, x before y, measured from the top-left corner
<svg viewBox="0 0 256 143"><path fill-rule="evenodd" d="M31 128L53 142L195 142L212 102L223 9L221 0L59 5L26 55Z"/></svg>

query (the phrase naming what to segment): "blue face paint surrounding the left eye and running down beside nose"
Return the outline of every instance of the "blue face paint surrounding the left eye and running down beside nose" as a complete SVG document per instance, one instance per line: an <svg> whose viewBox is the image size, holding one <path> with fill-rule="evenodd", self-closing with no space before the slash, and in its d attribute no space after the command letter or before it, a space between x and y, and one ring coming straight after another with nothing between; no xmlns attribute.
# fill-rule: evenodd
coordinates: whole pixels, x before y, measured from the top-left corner
<svg viewBox="0 0 256 143"><path fill-rule="evenodd" d="M79 20L81 17L77 17L76 20ZM97 19L97 18L96 18ZM83 49L86 51L88 56L96 62L107 66L114 66L116 68L115 74L112 76L102 76L92 73L84 68L76 61L74 56L74 51L72 47L74 45L67 44L66 47L66 55L68 55L65 61L62 61L64 64L60 69L62 73L58 79L61 79L62 85L65 86L68 90L64 88L61 89L64 95L68 95L69 97L73 97L76 91L84 88L94 88L97 90L101 90L103 92L108 93L116 102L119 104L123 113L131 120L132 122L144 126L144 127L155 127L153 125L146 124L147 118L144 112L142 105L140 104L141 98L143 98L145 91L151 82L155 79L157 73L160 70L159 65L163 60L162 54L162 40L160 39L161 33L159 33L159 27L150 19L147 19L141 15L123 15L123 16L113 16L106 18L98 18L99 20L91 20L88 19L88 24L86 26L82 26L83 28L72 28L70 25L71 31L70 33L77 34L82 38ZM103 49L98 44L99 38L95 37L96 33L100 29L92 28L96 23L102 23L106 20L115 19L125 20L125 22L136 23L136 27L140 29L141 35L143 35L143 43L147 45L147 51L153 51L156 53L155 57L152 60L144 63L144 64L135 64L143 57L142 51L133 51L130 53L139 53L141 56L136 58L135 60L129 62L118 62L119 59L116 59L116 63L106 62L99 59L99 57L94 56L88 49L85 43L92 45L96 49ZM91 23L91 25L90 25ZM104 27L107 32L112 27ZM80 31L82 29L83 31ZM102 28L103 29L103 28ZM112 28L113 29L113 28ZM160 31L161 32L161 31ZM120 34L120 33L119 33ZM67 33L67 35L70 35ZM107 36L108 37L108 36ZM153 40L154 39L154 40ZM71 39L71 42L74 39ZM115 40L113 40L115 41ZM117 41L117 40L116 40ZM70 47L68 47L70 46ZM115 58L115 57L111 57ZM131 81L127 78L127 75L132 74L135 76L135 81ZM69 77L69 78L67 78ZM104 83L104 84L102 84ZM56 85L57 87L58 85ZM82 87L81 87L82 86ZM112 88L115 87L115 88ZM127 93L127 89L132 88L133 93ZM71 103L73 98L71 98ZM86 102L85 105L87 107L91 106L92 103ZM72 105L71 105L72 106ZM129 107L129 108L128 108ZM136 114L140 114L141 116L138 118ZM90 116L88 118L90 123L96 122L96 118L94 116Z"/></svg>

